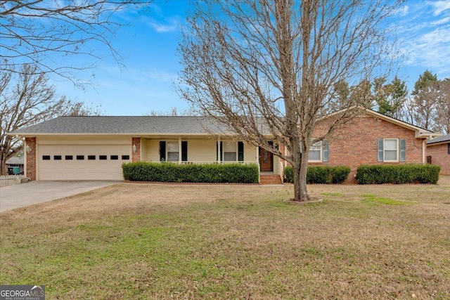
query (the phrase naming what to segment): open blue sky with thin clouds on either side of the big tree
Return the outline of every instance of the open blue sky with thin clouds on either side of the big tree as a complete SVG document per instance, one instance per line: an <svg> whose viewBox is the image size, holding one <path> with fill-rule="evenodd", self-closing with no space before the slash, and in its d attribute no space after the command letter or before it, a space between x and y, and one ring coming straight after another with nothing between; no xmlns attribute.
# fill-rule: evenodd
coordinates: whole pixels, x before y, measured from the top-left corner
<svg viewBox="0 0 450 300"><path fill-rule="evenodd" d="M185 24L188 1L155 0L143 15L128 12L134 21L122 27L113 41L125 67L105 58L93 70L80 72L91 85L79 89L70 81L56 82L57 92L87 105L100 105L105 115L146 115L188 104L176 94L174 84L181 70L176 47ZM450 0L407 1L394 16L399 47L405 59L398 75L411 92L425 70L438 79L450 78ZM72 58L76 59L76 58ZM92 74L95 74L92 77Z"/></svg>

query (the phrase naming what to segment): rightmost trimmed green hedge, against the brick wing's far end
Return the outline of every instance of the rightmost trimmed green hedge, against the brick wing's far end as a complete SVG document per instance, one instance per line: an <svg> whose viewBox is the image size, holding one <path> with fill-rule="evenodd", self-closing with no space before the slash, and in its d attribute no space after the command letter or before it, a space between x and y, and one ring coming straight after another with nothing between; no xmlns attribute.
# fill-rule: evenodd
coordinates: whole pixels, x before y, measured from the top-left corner
<svg viewBox="0 0 450 300"><path fill-rule="evenodd" d="M392 164L360 166L356 170L359 184L432 183L439 180L441 167L435 164Z"/></svg>

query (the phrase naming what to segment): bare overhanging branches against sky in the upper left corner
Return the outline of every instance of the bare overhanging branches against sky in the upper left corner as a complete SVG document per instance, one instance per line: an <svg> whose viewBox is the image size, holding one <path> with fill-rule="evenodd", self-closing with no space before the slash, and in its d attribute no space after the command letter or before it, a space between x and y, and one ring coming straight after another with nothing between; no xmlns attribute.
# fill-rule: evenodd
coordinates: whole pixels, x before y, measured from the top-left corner
<svg viewBox="0 0 450 300"><path fill-rule="evenodd" d="M120 53L113 48L111 41L117 28L125 21L114 15L126 8L148 6L150 2L0 1L0 70L18 72L21 70L19 65L30 63L37 65L41 73L58 74L75 83L75 70L93 67L92 64L77 64L80 56L94 60L112 56L120 61ZM78 59L68 60L70 56Z"/></svg>

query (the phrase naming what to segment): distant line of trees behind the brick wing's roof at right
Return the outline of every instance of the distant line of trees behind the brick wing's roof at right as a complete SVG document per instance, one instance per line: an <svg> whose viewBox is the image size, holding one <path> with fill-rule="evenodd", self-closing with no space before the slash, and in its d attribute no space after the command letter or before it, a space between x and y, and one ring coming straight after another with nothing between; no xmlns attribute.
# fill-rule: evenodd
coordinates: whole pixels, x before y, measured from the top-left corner
<svg viewBox="0 0 450 300"><path fill-rule="evenodd" d="M355 93L356 90L359 93ZM449 78L439 80L436 74L426 70L420 74L411 93L406 81L397 76L392 81L378 77L352 87L347 82L338 82L333 93L335 107L331 109L345 106L352 94L360 98L359 103L383 115L443 134L450 133Z"/></svg>

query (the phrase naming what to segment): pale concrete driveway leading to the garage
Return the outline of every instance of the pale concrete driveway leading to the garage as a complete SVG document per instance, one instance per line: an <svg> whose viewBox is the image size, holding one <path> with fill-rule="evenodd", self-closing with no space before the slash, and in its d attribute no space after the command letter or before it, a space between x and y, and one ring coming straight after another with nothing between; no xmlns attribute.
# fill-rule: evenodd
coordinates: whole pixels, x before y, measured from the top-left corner
<svg viewBox="0 0 450 300"><path fill-rule="evenodd" d="M85 193L122 181L31 181L0 187L0 212Z"/></svg>

